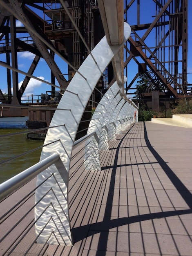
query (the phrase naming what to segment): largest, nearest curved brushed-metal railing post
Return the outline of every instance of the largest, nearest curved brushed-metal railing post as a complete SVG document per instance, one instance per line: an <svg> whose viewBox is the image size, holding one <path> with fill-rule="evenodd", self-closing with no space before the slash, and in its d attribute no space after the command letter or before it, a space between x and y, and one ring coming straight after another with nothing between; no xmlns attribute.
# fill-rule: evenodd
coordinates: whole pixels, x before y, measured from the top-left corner
<svg viewBox="0 0 192 256"><path fill-rule="evenodd" d="M124 42L129 37L130 32L129 25L125 23ZM58 139L60 141L44 147L40 160L53 153L58 153L60 162L47 168L37 178L37 185L40 185L51 173L54 173L54 176L51 176L36 190L36 202L40 201L35 207L38 243L47 243L47 239L53 231L49 238L49 244L73 244L68 212L68 174L71 151L78 125L92 91L105 67L120 48L121 45L109 46L105 37L100 41L92 51L96 63L89 55L78 70L86 77L86 80L76 73L68 85L67 90L77 93L77 95L65 92L51 120L50 126L61 126L49 129L44 143L49 144ZM59 109L70 109L70 111ZM43 197L44 195L45 197ZM50 202L52 203L50 204ZM44 212L46 207L48 208Z"/></svg>

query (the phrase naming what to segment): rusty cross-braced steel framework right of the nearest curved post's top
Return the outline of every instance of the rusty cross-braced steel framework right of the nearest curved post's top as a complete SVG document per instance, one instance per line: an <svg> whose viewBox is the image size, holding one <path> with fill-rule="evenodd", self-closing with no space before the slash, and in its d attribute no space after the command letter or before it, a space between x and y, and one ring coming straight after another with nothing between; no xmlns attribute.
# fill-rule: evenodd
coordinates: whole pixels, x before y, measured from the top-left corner
<svg viewBox="0 0 192 256"><path fill-rule="evenodd" d="M126 71L131 60L138 64L138 72L127 81L127 92L144 73L151 89L173 97L191 93L187 78L188 0L126 0L125 19L132 27L126 45Z"/></svg>

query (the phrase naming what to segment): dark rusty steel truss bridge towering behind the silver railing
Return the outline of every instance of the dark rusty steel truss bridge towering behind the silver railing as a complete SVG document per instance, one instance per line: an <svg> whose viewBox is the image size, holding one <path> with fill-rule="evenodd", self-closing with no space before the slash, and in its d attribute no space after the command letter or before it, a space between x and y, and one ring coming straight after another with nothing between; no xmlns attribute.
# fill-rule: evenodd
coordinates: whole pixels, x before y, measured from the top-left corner
<svg viewBox="0 0 192 256"><path fill-rule="evenodd" d="M0 54L3 61L0 65L7 76L7 85L0 88L2 103L21 104L29 80L38 70L40 58L47 63L51 81L48 91L52 98L56 84L59 90L67 88L80 65L104 36L109 23L114 22L106 20L102 25L98 4L99 1L94 0L2 1ZM136 79L145 74L150 81L146 92L159 91L174 98L188 97L191 94L187 74L188 0L126 0L123 10L124 20L131 26L131 36L122 49L124 73L128 77L126 94L134 93ZM107 7L106 11L111 12L111 9ZM16 26L17 20L22 22L22 27ZM18 70L18 52L34 54L27 72ZM56 55L68 64L67 76L60 70ZM18 74L23 81L20 88ZM111 62L103 75L96 85L100 92L115 81ZM6 87L7 97L2 92ZM101 99L100 92L94 92L92 106ZM15 115L19 112L18 108Z"/></svg>

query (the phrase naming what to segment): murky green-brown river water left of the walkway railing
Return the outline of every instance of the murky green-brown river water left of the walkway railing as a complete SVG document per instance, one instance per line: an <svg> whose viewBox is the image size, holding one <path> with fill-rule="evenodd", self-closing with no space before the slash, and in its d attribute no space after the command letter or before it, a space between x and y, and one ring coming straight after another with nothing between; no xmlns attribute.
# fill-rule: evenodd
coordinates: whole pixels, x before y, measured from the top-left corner
<svg viewBox="0 0 192 256"><path fill-rule="evenodd" d="M0 136L27 131L27 126L25 126L27 119L28 117L1 117ZM43 141L29 140L26 138L25 133L11 137L0 137L0 163L42 145ZM39 161L40 153L41 149L38 149L27 155L0 164L0 183L36 164Z"/></svg>

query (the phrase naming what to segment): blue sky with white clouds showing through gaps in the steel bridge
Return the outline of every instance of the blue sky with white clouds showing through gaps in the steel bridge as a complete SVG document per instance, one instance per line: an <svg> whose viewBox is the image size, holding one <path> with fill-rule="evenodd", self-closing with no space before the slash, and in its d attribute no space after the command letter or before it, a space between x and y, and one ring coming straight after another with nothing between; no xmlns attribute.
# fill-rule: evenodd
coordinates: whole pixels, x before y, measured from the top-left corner
<svg viewBox="0 0 192 256"><path fill-rule="evenodd" d="M135 1L137 2L137 1ZM144 11L141 14L141 24L143 23L150 23L153 21L153 17L152 15L154 15L154 8L152 6L152 1L151 0L145 0L145 1L140 1L141 4L143 4L143 7L141 6L141 8L143 8L144 10L147 10L148 15L146 15L146 11ZM145 6L144 6L145 3ZM154 4L154 3L153 3ZM153 11L152 11L153 10ZM129 13L130 16L128 16L128 23L130 25L134 25L136 24L136 15L134 15L135 12L135 6L132 5L132 7L130 8ZM150 12L151 11L151 12ZM191 26L191 21L192 18L190 16L190 13L192 13L192 1L189 0L188 1L188 73L192 72L192 26ZM17 26L21 26L22 24L20 23L20 21L17 21ZM141 32L142 34L144 34L144 31ZM142 36L141 34L141 36ZM26 36L26 35L21 35L21 36ZM146 43L150 43L150 40L152 38L150 38L150 36L146 39ZM27 72L31 62L34 58L34 55L30 52L19 52L18 53L18 69L22 70L24 72ZM0 54L0 61L5 61L5 54ZM56 56L55 61L58 65L58 67L60 68L61 72L63 74L67 74L67 64L61 60L59 57ZM128 73L127 73L127 80L128 82L132 81L132 79L134 78L135 74L138 72L138 66L137 64L132 60L129 65L128 65ZM0 74L1 74L1 84L0 84L0 89L2 90L2 92L6 92L7 93L7 70L5 67L0 66ZM45 81L49 81L51 82L51 75L50 75L50 70L49 67L47 66L47 63L41 58L38 66L36 67L35 72L33 73L34 76L37 76L38 78L45 80ZM19 74L19 87L22 84L23 79L25 78L25 76L23 76L22 74ZM68 76L65 75L65 78L68 80ZM188 83L192 83L192 74L188 74ZM56 85L58 85L58 82L56 81ZM47 85L45 83L42 83L40 81L34 80L34 79L30 79L29 84L27 85L27 88L25 90L24 95L40 95L41 93L46 93L46 91L51 90L50 85ZM56 89L57 90L57 89ZM24 98L23 98L24 99ZM25 98L27 99L27 98Z"/></svg>

